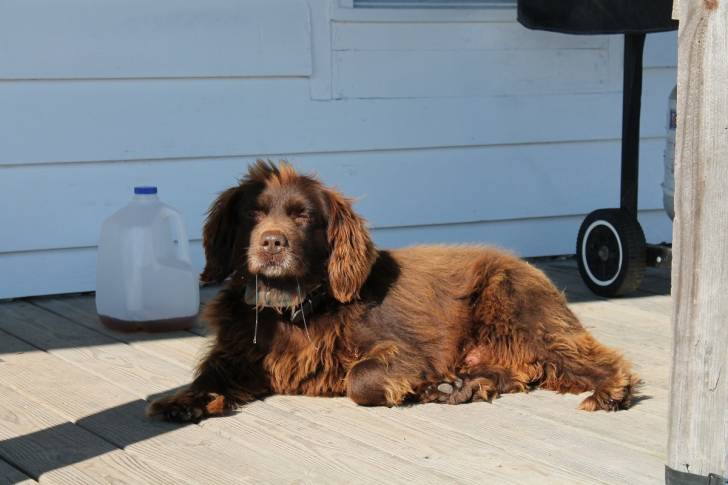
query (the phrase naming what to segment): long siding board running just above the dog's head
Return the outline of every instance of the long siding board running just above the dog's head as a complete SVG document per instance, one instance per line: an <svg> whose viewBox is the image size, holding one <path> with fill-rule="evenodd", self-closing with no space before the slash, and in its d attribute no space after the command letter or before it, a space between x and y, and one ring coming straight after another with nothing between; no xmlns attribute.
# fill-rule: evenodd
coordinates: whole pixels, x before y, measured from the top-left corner
<svg viewBox="0 0 728 485"><path fill-rule="evenodd" d="M654 71L647 137L674 85ZM609 140L620 111L619 92L322 102L306 79L0 82L0 165Z"/></svg>

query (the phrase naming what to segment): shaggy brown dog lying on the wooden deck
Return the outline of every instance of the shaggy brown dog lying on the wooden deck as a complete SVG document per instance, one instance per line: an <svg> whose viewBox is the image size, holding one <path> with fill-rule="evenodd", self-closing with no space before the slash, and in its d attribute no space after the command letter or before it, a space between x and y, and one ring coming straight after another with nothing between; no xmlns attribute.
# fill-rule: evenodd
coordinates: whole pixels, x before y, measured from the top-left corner
<svg viewBox="0 0 728 485"><path fill-rule="evenodd" d="M258 162L204 229L215 342L189 388L149 414L198 421L269 394L370 406L593 391L629 407L638 383L538 269L481 246L377 250L348 199L290 165Z"/></svg>

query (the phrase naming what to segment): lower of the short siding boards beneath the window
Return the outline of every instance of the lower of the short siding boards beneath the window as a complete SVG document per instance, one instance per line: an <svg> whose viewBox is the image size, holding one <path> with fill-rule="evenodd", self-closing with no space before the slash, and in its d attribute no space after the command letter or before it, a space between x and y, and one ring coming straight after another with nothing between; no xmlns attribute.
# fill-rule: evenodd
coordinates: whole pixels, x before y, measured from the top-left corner
<svg viewBox="0 0 728 485"><path fill-rule="evenodd" d="M608 60L604 49L337 51L334 86L338 98L593 93L609 88Z"/></svg>

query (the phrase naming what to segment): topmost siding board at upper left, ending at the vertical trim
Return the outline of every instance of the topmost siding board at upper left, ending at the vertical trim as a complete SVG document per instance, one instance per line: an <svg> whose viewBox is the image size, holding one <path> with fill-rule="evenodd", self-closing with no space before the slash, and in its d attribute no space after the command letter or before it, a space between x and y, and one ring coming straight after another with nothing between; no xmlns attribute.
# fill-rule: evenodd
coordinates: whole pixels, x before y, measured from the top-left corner
<svg viewBox="0 0 728 485"><path fill-rule="evenodd" d="M303 0L3 0L0 79L307 76Z"/></svg>

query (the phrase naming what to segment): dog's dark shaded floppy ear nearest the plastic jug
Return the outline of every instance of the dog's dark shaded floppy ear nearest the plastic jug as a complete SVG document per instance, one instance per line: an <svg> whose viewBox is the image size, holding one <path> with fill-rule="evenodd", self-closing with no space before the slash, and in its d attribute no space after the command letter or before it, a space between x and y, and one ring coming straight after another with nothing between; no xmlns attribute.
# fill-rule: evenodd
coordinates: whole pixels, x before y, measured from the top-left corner
<svg viewBox="0 0 728 485"><path fill-rule="evenodd" d="M240 205L245 193L244 184L227 189L210 206L202 232L205 247L203 283L220 283L235 270L233 258L241 249Z"/></svg>

